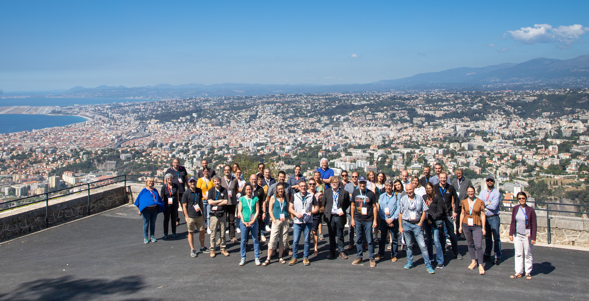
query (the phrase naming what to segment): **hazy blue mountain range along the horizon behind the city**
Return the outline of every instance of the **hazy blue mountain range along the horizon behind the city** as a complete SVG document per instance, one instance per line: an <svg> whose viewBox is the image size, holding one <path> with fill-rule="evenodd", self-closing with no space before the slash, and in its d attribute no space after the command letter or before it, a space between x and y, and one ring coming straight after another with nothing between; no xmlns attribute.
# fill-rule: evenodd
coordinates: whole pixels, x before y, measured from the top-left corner
<svg viewBox="0 0 589 301"><path fill-rule="evenodd" d="M572 59L534 58L520 64L504 63L481 68L461 67L428 72L396 80L369 84L266 85L266 84L158 84L145 87L74 87L64 97L143 97L177 98L288 93L325 93L379 90L503 90L517 88L589 87L589 55ZM6 93L8 94L8 93Z"/></svg>

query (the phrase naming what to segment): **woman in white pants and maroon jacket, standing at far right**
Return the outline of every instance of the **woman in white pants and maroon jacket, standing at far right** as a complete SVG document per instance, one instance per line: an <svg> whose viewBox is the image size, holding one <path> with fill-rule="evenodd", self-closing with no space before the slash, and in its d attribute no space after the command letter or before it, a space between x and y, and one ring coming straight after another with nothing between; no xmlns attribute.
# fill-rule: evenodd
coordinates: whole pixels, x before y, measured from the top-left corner
<svg viewBox="0 0 589 301"><path fill-rule="evenodd" d="M510 278L532 279L532 246L536 243L536 212L525 201L528 195L524 191L517 193L519 205L514 206L511 212L511 226L509 226L509 240L515 246L515 274Z"/></svg>

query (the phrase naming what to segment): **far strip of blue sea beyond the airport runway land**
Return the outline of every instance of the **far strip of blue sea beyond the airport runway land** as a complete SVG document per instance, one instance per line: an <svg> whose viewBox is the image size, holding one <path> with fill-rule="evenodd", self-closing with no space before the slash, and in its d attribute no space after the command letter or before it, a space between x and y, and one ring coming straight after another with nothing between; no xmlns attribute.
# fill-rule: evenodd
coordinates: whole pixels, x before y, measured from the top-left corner
<svg viewBox="0 0 589 301"><path fill-rule="evenodd" d="M27 98L2 98L0 97L0 107L9 107L11 105L30 105L31 107L50 107L52 105L87 105L87 104L112 104L120 102L136 101L158 101L142 100L130 98L68 98L68 97L27 97Z"/></svg>

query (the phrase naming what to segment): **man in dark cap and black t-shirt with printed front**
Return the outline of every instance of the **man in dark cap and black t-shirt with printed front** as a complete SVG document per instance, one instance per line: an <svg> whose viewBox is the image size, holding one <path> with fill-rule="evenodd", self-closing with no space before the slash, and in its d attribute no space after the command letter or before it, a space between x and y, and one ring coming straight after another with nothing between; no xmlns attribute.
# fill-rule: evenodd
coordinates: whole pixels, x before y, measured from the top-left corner
<svg viewBox="0 0 589 301"><path fill-rule="evenodd" d="M353 216L352 227L356 227L356 260L352 262L353 265L362 263L362 242L368 243L368 257L370 259L370 267L375 267L374 260L374 242L372 240L372 229L376 227L375 216L376 205L378 200L372 190L366 189L366 177L358 178L359 189L352 193L351 201L354 204L351 206L351 214Z"/></svg>

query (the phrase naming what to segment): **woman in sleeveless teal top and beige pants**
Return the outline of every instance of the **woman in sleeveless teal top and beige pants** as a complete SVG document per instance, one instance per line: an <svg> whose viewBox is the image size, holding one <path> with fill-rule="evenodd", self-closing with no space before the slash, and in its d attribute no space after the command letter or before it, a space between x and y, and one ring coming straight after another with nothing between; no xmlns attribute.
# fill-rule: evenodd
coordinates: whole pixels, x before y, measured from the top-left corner
<svg viewBox="0 0 589 301"><path fill-rule="evenodd" d="M268 242L268 259L262 263L263 266L270 263L272 251L276 249L276 244L279 242L278 261L283 264L286 263L282 259L282 252L284 246L287 246L289 242L289 202L284 198L284 183L276 184L276 194L270 197L270 208L272 208L270 210L272 230L270 230L270 241Z"/></svg>

